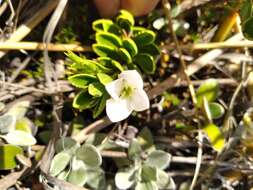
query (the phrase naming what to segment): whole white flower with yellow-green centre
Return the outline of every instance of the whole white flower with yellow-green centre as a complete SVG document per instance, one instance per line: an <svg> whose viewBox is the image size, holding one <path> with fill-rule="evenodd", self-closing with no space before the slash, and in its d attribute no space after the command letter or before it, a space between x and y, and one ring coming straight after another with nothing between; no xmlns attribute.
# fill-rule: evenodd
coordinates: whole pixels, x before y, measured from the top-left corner
<svg viewBox="0 0 253 190"><path fill-rule="evenodd" d="M136 70L123 71L117 80L105 86L111 99L106 101L106 113L112 122L126 119L132 111L149 108L149 99L143 90L143 81Z"/></svg>

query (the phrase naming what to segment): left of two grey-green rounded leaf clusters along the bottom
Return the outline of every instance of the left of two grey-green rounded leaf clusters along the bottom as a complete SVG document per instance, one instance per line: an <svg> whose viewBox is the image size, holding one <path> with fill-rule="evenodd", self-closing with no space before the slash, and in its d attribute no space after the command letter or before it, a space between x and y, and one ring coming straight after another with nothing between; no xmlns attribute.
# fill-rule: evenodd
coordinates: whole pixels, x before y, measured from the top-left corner
<svg viewBox="0 0 253 190"><path fill-rule="evenodd" d="M102 157L91 144L80 146L71 138L61 138L56 143L50 175L66 180L74 185L99 189L105 183L104 171L100 168Z"/></svg>

